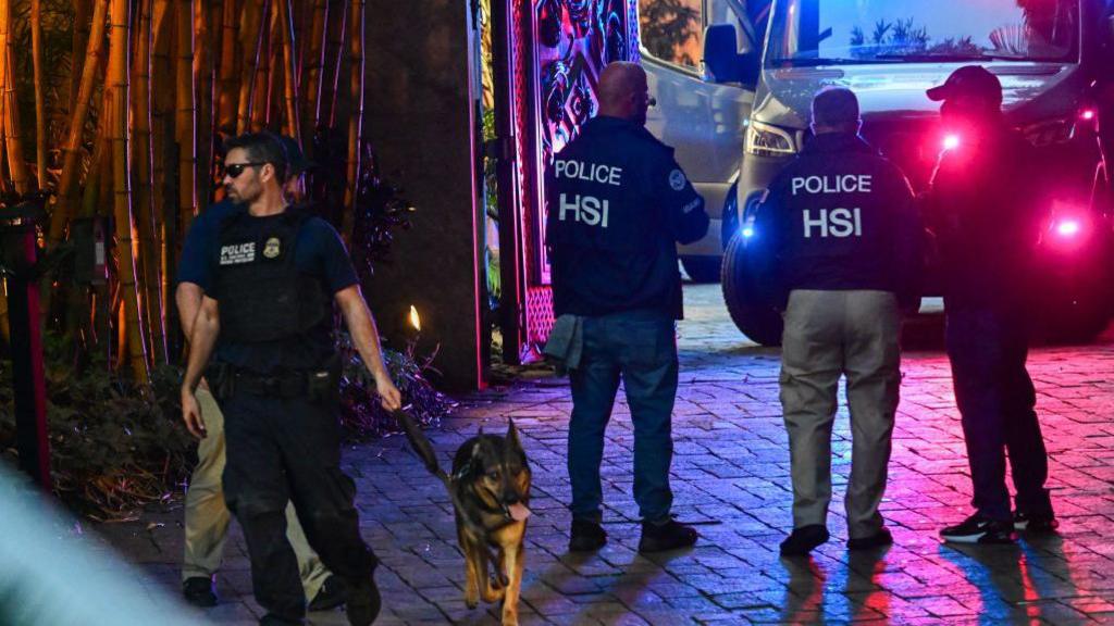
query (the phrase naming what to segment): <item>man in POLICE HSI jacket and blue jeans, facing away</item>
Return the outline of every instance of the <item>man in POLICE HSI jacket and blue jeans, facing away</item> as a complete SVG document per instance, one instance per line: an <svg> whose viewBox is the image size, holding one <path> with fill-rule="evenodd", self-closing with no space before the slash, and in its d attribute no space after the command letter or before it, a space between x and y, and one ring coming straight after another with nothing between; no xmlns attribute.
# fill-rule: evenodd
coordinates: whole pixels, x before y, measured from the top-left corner
<svg viewBox="0 0 1114 626"><path fill-rule="evenodd" d="M692 546L696 531L671 515L672 413L681 319L676 242L707 231L704 200L646 128L646 72L627 62L599 77L599 115L546 172L547 245L557 323L547 354L569 369L573 483L569 549L607 542L600 521L604 430L623 379L634 422L638 550Z"/></svg>

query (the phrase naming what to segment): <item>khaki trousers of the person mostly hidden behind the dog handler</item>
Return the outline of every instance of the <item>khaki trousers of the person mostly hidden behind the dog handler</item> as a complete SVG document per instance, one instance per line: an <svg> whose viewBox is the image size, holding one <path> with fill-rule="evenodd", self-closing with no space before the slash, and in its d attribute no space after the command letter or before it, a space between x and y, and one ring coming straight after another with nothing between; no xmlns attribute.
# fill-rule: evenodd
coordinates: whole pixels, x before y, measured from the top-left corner
<svg viewBox="0 0 1114 626"><path fill-rule="evenodd" d="M222 475L225 463L224 414L213 394L197 390L197 403L205 421L207 436L197 444L197 467L186 491L186 549L182 579L209 577L221 567L224 542L228 537L228 507L224 502ZM329 578L330 571L310 548L294 506L286 505L286 538L297 557L302 588L307 600L313 599Z"/></svg>

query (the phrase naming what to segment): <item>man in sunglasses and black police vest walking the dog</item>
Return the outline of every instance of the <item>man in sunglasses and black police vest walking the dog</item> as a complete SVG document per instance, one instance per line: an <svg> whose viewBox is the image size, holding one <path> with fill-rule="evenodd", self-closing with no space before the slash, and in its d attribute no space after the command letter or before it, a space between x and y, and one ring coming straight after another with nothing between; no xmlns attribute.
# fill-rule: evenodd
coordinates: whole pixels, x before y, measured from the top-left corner
<svg viewBox="0 0 1114 626"><path fill-rule="evenodd" d="M349 588L349 622L368 625L380 608L378 561L360 537L355 486L340 469L341 360L331 336L331 301L385 408L399 408L399 390L336 232L304 211L287 209L282 145L272 135L250 134L226 148L228 198L247 211L221 228L213 288L190 333L183 419L195 437L205 437L195 390L215 348L206 378L225 417L224 492L244 529L255 599L267 612L261 624L302 624L305 615L286 539L290 500L310 545Z"/></svg>

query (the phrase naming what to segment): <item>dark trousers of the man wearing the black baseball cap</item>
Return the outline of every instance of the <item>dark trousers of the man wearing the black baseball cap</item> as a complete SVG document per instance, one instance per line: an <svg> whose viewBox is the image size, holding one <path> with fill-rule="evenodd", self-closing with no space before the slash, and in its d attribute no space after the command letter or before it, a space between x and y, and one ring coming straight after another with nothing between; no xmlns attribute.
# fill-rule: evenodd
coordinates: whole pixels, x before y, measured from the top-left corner
<svg viewBox="0 0 1114 626"><path fill-rule="evenodd" d="M1012 519L1006 457L1017 489L1017 509L1052 515L1045 480L1048 453L1037 421L1036 392L1025 369L1028 340L1015 313L993 309L947 311L947 348L967 443L975 497L984 516Z"/></svg>

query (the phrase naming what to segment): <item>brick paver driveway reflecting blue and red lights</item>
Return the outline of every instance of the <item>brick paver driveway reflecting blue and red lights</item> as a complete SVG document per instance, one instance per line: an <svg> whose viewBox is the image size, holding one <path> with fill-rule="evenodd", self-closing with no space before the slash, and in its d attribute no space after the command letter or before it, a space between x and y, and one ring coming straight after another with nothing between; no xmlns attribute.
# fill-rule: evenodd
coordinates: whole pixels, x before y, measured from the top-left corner
<svg viewBox="0 0 1114 626"><path fill-rule="evenodd" d="M778 352L745 341L726 320L716 286L690 287L681 325L682 381L673 463L675 511L700 524L688 551L637 556L631 497L633 433L625 404L608 430L606 528L598 555L566 552L569 487L561 379L525 380L462 399L430 433L448 462L482 427L514 418L534 468L535 517L527 537L521 616L526 624L1114 624L1114 342L1034 350L1029 369L1052 456L1056 536L1016 547L955 549L937 531L968 512L970 486L947 361L939 345L906 353L902 399L883 503L896 545L850 554L842 489L850 470L846 405L836 426L832 540L808 560L776 554L790 525L789 452L778 402ZM382 624L492 624L494 608L462 600L463 563L443 489L390 438L345 452L359 482L364 536L382 558ZM154 522L154 524L152 524ZM159 526L162 524L162 526ZM180 510L141 525L102 528L152 577L177 590ZM223 604L205 614L252 624L258 607L243 540L229 542L219 578ZM311 614L345 624L343 614Z"/></svg>

